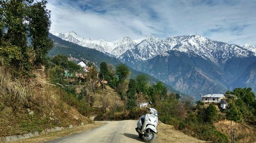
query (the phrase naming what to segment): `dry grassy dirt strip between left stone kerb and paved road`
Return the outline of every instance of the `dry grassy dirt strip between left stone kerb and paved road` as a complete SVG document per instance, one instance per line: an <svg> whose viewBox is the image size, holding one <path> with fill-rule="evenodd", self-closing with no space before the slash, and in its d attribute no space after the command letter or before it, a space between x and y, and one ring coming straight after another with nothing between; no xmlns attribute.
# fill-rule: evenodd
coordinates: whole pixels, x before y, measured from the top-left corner
<svg viewBox="0 0 256 143"><path fill-rule="evenodd" d="M50 132L50 133L40 135L40 136L37 136L37 137L11 141L11 143L18 143L18 142L39 143L39 142L45 142L45 141L53 140L53 139L56 139L56 138L60 138L60 137L64 137L64 136L68 136L68 135L72 135L72 134L81 133L83 131L91 130L91 129L97 128L99 126L102 126L104 124L106 124L106 123L87 124L87 125L75 127L75 128L72 128L72 129L65 129L65 130L61 130L61 131Z"/></svg>

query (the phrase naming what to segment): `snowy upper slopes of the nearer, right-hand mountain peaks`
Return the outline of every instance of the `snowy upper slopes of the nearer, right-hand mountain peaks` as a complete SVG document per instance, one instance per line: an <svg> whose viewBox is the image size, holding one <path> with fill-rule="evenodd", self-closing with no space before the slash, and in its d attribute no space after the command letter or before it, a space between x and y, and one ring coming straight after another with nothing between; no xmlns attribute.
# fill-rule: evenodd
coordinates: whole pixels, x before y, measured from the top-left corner
<svg viewBox="0 0 256 143"><path fill-rule="evenodd" d="M143 40L119 57L121 60L134 57L145 61L169 50L197 55L213 62L225 61L233 57L248 57L255 53L255 47L243 47L236 44L214 41L201 35L170 36L164 40ZM254 50L254 51L253 51ZM131 55L132 54L132 55ZM129 59L131 60L131 59Z"/></svg>

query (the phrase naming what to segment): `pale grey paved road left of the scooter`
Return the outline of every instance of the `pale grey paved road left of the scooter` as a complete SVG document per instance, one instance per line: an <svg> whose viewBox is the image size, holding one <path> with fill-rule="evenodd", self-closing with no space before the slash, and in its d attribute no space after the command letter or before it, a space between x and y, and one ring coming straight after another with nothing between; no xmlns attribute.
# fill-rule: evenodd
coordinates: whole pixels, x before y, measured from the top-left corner
<svg viewBox="0 0 256 143"><path fill-rule="evenodd" d="M113 121L99 128L86 132L58 138L48 143L84 143L84 142L143 142L135 131L137 121Z"/></svg>

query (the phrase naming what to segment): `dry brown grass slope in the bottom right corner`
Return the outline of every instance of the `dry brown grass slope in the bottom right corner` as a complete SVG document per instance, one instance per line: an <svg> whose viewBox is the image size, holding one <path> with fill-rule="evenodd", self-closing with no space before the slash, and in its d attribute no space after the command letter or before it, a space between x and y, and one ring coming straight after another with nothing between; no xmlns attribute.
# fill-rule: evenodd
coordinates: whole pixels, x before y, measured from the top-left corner
<svg viewBox="0 0 256 143"><path fill-rule="evenodd" d="M234 126L234 122L232 122ZM215 123L217 130L225 133L228 138L230 138L230 121L223 120ZM255 142L256 141L256 128L246 124L237 123L236 130L236 141L237 142Z"/></svg>

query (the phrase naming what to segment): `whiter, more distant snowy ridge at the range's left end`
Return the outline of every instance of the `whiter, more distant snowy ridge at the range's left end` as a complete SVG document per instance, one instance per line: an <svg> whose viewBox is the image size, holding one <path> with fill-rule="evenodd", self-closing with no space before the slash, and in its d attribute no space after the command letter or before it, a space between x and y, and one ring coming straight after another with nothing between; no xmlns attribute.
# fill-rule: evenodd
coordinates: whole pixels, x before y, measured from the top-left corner
<svg viewBox="0 0 256 143"><path fill-rule="evenodd" d="M53 35L81 46L89 47L91 49L98 50L105 54L111 54L119 57L127 50L133 49L134 46L142 41L143 39L132 40L129 37L123 37L115 41L105 41L105 40L91 40L90 38L82 38L78 36L75 32L64 32L64 33L52 33Z"/></svg>

